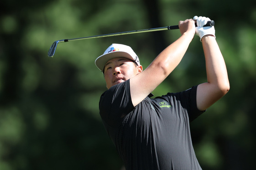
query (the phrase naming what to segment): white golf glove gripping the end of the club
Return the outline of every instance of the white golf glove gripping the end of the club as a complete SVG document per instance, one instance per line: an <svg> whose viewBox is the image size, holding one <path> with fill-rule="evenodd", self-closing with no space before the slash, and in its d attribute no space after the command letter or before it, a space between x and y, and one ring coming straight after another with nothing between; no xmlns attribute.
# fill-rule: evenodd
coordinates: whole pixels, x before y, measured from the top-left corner
<svg viewBox="0 0 256 170"><path fill-rule="evenodd" d="M214 26L204 26L207 24L208 21L211 21L209 18L206 18L204 16L194 16L193 20L197 21L196 35L200 37L201 42L203 36L206 35L213 35L216 38Z"/></svg>

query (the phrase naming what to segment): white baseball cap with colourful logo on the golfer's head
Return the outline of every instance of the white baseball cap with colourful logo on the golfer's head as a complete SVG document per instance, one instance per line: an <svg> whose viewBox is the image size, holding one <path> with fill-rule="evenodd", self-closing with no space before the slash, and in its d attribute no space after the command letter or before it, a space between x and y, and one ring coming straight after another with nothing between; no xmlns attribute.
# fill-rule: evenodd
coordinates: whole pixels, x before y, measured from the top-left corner
<svg viewBox="0 0 256 170"><path fill-rule="evenodd" d="M107 50L95 60L95 65L103 72L104 66L107 61L112 58L124 57L128 58L139 66L139 57L133 52L133 49L130 46L123 44L112 44L107 48Z"/></svg>

